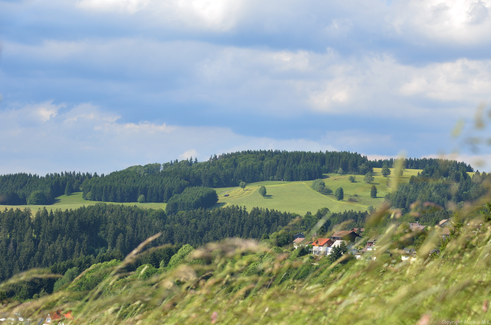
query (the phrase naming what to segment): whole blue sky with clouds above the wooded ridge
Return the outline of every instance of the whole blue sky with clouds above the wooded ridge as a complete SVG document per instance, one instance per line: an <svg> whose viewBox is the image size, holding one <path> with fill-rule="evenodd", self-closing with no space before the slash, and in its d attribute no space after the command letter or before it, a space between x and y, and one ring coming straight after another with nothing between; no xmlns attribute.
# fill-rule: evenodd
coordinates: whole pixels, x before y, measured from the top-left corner
<svg viewBox="0 0 491 325"><path fill-rule="evenodd" d="M490 171L490 11L491 0L0 0L0 174L246 149Z"/></svg>

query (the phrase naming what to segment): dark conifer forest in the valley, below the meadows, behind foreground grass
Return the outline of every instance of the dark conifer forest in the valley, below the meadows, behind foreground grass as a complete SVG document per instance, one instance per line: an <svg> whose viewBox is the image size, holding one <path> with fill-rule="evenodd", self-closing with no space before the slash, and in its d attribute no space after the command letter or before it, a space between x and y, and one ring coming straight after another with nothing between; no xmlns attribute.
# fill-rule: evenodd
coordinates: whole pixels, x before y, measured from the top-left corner
<svg viewBox="0 0 491 325"><path fill-rule="evenodd" d="M84 269L94 261L121 259L158 232L163 236L154 245L198 246L228 237L261 238L294 217L260 208L247 212L237 206L167 216L161 209L97 203L70 211L40 209L33 218L29 209L5 209L0 212L0 280L31 268Z"/></svg>

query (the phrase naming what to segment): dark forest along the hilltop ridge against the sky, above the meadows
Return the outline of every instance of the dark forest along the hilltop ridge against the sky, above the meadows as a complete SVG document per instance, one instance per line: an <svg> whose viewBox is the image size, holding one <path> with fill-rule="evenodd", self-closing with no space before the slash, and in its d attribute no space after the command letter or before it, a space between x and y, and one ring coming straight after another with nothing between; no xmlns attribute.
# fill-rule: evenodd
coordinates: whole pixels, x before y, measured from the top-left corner
<svg viewBox="0 0 491 325"><path fill-rule="evenodd" d="M238 186L241 181L253 183L267 180L305 181L322 178L323 173L362 174L394 159L369 161L366 156L348 151L305 152L280 150L247 150L210 157L198 162L187 159L178 162L136 165L108 175L65 172L46 176L26 173L0 176L0 201L8 205L51 204L56 196L83 189L83 198L103 202L167 202L187 187ZM466 163L433 158L409 158L405 168L450 166L456 170L473 171Z"/></svg>

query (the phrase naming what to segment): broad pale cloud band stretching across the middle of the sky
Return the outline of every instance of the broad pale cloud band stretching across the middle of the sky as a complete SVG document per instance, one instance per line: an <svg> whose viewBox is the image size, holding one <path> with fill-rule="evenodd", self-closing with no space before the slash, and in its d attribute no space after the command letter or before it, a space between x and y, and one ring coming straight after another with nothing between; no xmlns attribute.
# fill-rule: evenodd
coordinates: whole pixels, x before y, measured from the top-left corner
<svg viewBox="0 0 491 325"><path fill-rule="evenodd" d="M79 69L93 71L99 75L95 82L111 91L137 89L142 99L210 104L217 112L247 109L251 114L314 111L400 117L411 110L440 115L437 102L453 106L446 113L455 119L463 107L473 109L480 101L491 100L491 59L414 66L390 55L345 57L332 49L324 53L274 51L126 38L29 46L6 42L3 55L48 65L70 61L78 69L64 77L69 82L80 80ZM166 86L159 87L162 76ZM92 80L86 82L92 86ZM44 114L51 116L48 111Z"/></svg>

